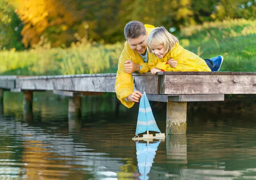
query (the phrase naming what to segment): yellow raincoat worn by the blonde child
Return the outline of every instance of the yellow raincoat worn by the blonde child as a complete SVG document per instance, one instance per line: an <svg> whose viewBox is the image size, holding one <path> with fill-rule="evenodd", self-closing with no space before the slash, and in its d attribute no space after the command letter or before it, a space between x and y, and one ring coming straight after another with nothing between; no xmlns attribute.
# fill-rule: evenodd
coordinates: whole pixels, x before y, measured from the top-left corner
<svg viewBox="0 0 256 180"><path fill-rule="evenodd" d="M177 61L177 67L171 67L169 64L166 64L169 58ZM167 52L161 59L150 53L148 55L148 66L150 70L157 67L164 71L211 71L204 59L184 49L179 43L175 43L175 47L172 51Z"/></svg>

